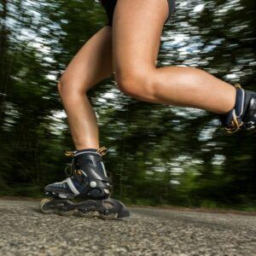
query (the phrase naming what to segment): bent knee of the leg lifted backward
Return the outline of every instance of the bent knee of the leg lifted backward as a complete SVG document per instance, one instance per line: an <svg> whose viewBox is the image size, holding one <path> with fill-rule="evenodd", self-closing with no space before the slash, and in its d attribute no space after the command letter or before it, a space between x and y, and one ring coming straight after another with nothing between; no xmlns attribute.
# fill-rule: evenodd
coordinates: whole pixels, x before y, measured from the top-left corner
<svg viewBox="0 0 256 256"><path fill-rule="evenodd" d="M119 90L127 96L148 101L154 98L155 87L149 70L120 72L115 74Z"/></svg>

